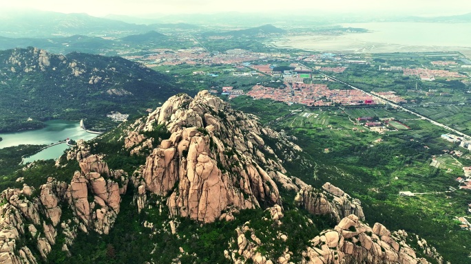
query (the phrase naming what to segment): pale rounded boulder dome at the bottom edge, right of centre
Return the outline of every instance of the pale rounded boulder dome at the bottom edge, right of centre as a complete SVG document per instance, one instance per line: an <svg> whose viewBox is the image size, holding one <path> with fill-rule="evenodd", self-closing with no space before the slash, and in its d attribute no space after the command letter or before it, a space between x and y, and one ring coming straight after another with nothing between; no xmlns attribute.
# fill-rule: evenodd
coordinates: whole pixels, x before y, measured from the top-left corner
<svg viewBox="0 0 471 264"><path fill-rule="evenodd" d="M401 236L392 235L380 223L370 228L354 214L311 242L313 246L303 253L302 263L429 263L417 258Z"/></svg>

